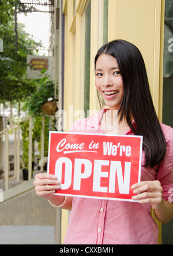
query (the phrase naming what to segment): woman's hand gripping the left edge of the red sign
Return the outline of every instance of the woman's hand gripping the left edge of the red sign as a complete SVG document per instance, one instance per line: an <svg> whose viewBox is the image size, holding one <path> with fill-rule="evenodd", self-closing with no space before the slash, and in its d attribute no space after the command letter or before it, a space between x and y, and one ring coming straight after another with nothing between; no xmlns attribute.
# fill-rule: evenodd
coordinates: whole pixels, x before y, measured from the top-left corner
<svg viewBox="0 0 173 256"><path fill-rule="evenodd" d="M50 200L53 196L52 194L54 194L56 190L60 189L61 183L57 180L57 176L55 175L38 173L35 176L33 184L35 185L37 196Z"/></svg>

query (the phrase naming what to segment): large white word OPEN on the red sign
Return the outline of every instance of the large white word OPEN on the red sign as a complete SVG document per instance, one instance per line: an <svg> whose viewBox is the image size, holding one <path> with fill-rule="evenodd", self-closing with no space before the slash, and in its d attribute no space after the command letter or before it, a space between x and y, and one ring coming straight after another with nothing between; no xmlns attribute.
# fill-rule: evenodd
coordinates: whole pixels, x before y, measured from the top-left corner
<svg viewBox="0 0 173 256"><path fill-rule="evenodd" d="M108 187L101 186L101 178L108 178L108 172L102 166L110 165ZM83 168L82 168L83 166ZM67 190L72 184L73 164L69 158L61 157L55 164L55 175L61 182L61 189ZM101 170L102 169L102 170ZM62 175L64 172L64 175ZM93 167L93 191L115 193L115 181L119 187L119 194L129 194L130 190L131 162L125 162L125 172L123 175L121 161L95 160ZM74 160L74 180L73 189L81 190L81 179L87 179L92 174L92 162L88 159L76 158ZM64 176L64 178L63 178ZM63 180L63 183L62 183ZM170 195L170 197L172 194Z"/></svg>

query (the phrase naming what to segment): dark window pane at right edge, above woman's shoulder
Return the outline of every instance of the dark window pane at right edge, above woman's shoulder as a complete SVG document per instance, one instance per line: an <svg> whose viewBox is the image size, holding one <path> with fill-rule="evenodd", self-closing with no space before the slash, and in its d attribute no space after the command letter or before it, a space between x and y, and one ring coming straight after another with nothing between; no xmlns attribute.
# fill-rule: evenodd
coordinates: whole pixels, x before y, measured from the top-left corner
<svg viewBox="0 0 173 256"><path fill-rule="evenodd" d="M164 22L163 123L173 127L173 1L166 0Z"/></svg>

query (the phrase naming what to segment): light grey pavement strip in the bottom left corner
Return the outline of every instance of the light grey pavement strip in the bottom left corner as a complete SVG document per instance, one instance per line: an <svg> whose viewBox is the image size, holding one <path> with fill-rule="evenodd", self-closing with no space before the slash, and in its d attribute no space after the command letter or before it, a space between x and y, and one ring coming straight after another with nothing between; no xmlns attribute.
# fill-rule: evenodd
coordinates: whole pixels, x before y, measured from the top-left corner
<svg viewBox="0 0 173 256"><path fill-rule="evenodd" d="M0 244L55 244L54 227L0 226Z"/></svg>

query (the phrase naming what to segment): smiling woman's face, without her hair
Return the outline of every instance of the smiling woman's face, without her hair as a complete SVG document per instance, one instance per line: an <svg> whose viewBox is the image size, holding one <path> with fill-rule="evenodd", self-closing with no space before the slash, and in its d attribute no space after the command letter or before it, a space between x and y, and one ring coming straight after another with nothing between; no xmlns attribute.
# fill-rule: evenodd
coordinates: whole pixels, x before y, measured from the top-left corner
<svg viewBox="0 0 173 256"><path fill-rule="evenodd" d="M123 98L123 81L116 58L101 54L96 62L95 86L110 109L118 110Z"/></svg>

